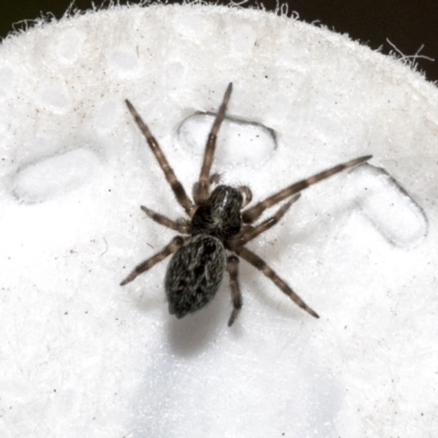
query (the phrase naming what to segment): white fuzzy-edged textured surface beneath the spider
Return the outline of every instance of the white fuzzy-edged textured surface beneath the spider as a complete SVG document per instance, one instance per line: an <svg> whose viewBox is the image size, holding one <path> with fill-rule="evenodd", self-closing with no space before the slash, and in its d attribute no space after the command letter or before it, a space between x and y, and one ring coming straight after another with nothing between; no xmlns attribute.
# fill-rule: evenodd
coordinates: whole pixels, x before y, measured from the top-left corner
<svg viewBox="0 0 438 438"><path fill-rule="evenodd" d="M230 81L214 170L255 199L374 155L250 245L320 320L244 262L232 328L227 280L182 321L165 263L118 286L173 235L139 205L183 215L123 100L191 191L201 147L178 128ZM436 436L437 108L406 67L256 11L118 9L3 42L1 437Z"/></svg>

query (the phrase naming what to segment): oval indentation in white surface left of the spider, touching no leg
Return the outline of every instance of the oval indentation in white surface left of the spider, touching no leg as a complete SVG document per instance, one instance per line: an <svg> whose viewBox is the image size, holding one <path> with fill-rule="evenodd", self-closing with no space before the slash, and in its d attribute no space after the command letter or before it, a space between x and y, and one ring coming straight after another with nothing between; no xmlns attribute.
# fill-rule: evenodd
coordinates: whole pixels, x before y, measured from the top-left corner
<svg viewBox="0 0 438 438"><path fill-rule="evenodd" d="M87 183L100 164L88 149L41 159L16 172L12 192L23 203L49 200Z"/></svg>

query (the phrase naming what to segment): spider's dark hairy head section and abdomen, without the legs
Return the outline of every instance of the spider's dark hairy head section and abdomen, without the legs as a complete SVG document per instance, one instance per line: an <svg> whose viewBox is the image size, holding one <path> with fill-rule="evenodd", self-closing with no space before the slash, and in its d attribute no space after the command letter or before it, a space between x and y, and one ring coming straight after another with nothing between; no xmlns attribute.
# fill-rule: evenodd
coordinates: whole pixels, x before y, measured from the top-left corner
<svg viewBox="0 0 438 438"><path fill-rule="evenodd" d="M219 185L192 218L191 241L172 256L164 288L169 313L183 318L212 300L226 270L223 241L239 233L243 197Z"/></svg>

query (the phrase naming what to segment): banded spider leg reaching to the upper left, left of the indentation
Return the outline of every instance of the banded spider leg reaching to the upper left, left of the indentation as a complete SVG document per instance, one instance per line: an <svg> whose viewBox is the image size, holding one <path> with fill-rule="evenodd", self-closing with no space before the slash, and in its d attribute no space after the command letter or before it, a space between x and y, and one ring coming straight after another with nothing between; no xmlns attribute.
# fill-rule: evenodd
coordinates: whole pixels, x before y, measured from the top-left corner
<svg viewBox="0 0 438 438"><path fill-rule="evenodd" d="M160 164L160 168L164 172L164 176L168 180L168 183L170 184L173 193L175 194L176 200L184 208L185 212L189 217L192 217L195 206L193 205L192 200L185 193L183 185L176 178L176 175L173 172L173 169L171 168L171 165L169 164L163 151L161 150L160 145L154 139L154 137L152 136L151 131L148 128L148 125L146 125L146 123L142 120L142 118L137 113L137 111L132 106L132 104L128 100L126 100L125 102L126 102L126 105L128 106L130 114L132 114L134 119L136 120L138 127L140 128L142 135L145 136L146 140L148 141L150 149L152 150L153 154L155 155L155 159L157 159L158 163Z"/></svg>

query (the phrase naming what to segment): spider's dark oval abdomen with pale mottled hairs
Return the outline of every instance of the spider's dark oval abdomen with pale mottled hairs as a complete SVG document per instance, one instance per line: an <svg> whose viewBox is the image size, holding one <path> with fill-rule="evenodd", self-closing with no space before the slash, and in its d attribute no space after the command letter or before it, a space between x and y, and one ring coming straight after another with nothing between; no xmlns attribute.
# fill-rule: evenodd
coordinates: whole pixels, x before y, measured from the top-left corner
<svg viewBox="0 0 438 438"><path fill-rule="evenodd" d="M226 269L222 242L207 234L195 235L171 258L164 287L169 312L183 318L215 297Z"/></svg>

